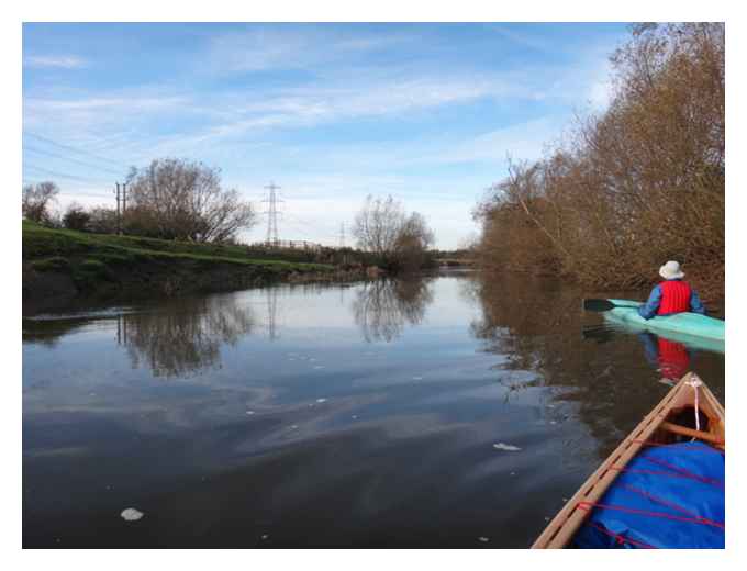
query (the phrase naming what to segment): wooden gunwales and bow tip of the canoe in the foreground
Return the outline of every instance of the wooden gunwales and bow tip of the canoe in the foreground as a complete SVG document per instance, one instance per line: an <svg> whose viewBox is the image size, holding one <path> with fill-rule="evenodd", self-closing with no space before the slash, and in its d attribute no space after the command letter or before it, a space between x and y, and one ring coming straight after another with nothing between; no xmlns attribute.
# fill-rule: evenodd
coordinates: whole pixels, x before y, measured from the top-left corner
<svg viewBox="0 0 747 571"><path fill-rule="evenodd" d="M620 473L621 468L640 451L644 443L662 437L662 433L671 432L682 434L689 432L689 436L696 430L674 425L667 421L672 414L685 408L694 408L694 391L689 384L700 381L696 374L689 372L672 387L666 396L654 410L644 417L633 432L615 448L615 450L602 462L602 464L579 488L578 492L566 503L545 530L536 539L532 549L560 549L573 537L591 511L579 508L579 503L597 503ZM702 383L702 381L701 381ZM698 387L699 411L707 418L707 427L699 435L702 440L722 450L726 449L725 443L725 413L718 400L709 390L705 383ZM704 436L707 435L707 436ZM613 468L614 467L614 468Z"/></svg>

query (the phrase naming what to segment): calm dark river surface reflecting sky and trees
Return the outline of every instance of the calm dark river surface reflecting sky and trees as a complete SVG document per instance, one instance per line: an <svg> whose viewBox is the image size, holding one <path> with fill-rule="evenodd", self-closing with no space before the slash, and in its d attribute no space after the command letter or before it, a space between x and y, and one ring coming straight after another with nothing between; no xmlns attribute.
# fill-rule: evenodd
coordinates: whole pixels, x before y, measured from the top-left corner
<svg viewBox="0 0 747 571"><path fill-rule="evenodd" d="M454 273L24 320L24 547L528 547L669 389L580 299Z"/></svg>

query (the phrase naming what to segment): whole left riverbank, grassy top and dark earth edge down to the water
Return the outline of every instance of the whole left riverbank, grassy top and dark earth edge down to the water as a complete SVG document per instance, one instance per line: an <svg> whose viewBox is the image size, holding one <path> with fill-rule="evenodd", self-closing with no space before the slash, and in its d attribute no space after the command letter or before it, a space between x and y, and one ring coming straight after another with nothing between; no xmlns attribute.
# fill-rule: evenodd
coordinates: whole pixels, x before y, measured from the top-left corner
<svg viewBox="0 0 747 571"><path fill-rule="evenodd" d="M230 291L278 281L360 279L365 268L250 257L243 246L89 234L23 221L23 305Z"/></svg>

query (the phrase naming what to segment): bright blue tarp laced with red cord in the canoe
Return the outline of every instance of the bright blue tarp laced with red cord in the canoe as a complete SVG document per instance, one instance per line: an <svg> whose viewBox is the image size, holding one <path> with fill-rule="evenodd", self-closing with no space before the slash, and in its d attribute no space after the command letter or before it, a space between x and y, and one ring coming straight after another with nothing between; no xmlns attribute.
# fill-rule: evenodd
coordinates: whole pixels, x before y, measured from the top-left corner
<svg viewBox="0 0 747 571"><path fill-rule="evenodd" d="M715 448L644 447L597 502L575 547L723 549L724 484L724 455Z"/></svg>

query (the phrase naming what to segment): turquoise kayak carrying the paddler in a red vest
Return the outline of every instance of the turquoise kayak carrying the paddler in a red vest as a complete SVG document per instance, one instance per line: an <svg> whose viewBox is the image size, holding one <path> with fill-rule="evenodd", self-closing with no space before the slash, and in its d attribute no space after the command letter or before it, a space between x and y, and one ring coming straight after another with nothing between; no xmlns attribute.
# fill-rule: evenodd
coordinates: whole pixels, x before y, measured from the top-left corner
<svg viewBox="0 0 747 571"><path fill-rule="evenodd" d="M680 340L674 336L681 335L684 336L682 338L683 342L691 337L721 342L723 347L725 322L721 320L698 313L677 313L674 315L659 315L650 320L644 320L638 315L638 307L643 305L642 302L629 300L607 301L618 305L618 307L604 312L604 317L611 322L661 333L673 340Z"/></svg>

